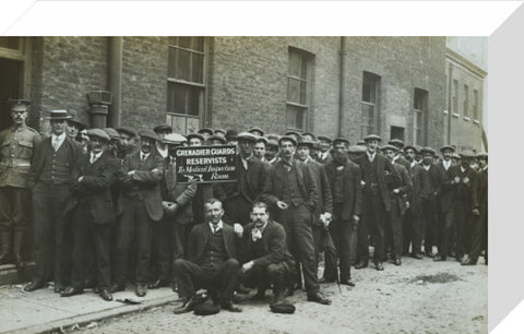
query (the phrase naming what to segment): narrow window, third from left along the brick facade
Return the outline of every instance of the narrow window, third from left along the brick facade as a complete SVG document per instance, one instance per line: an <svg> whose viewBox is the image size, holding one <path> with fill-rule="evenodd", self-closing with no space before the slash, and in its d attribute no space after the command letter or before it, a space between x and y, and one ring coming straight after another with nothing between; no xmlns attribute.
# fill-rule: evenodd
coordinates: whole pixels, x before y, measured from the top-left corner
<svg viewBox="0 0 524 334"><path fill-rule="evenodd" d="M370 72L362 75L362 102L360 103L360 135L377 133L377 119L379 115L380 76Z"/></svg>

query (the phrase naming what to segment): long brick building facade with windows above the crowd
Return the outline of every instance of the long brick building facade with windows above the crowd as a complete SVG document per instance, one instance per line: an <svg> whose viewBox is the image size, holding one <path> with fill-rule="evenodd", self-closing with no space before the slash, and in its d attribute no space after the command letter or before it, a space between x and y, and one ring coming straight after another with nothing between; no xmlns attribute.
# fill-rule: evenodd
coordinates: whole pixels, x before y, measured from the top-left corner
<svg viewBox="0 0 524 334"><path fill-rule="evenodd" d="M481 100L484 77L454 67L453 80L469 90L471 116L467 124L452 121L460 135L449 136L450 67L462 59L450 55L445 37L2 37L0 68L10 71L0 98L31 98L29 124L43 132L47 110L64 108L88 122L86 94L112 88L119 92L112 92L111 127L168 122L187 133L259 126L344 135L352 143L376 132L478 150L481 127L475 128L474 115L483 110L474 96ZM5 128L9 114L1 108Z"/></svg>

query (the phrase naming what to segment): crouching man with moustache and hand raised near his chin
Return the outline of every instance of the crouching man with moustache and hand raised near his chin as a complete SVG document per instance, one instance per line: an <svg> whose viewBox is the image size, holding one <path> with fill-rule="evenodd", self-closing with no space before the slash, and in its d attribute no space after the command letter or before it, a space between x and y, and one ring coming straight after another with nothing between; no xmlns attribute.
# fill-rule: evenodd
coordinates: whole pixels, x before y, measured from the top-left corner
<svg viewBox="0 0 524 334"><path fill-rule="evenodd" d="M267 204L255 202L251 223L243 229L248 262L240 269L239 279L246 286L257 286L253 299L264 298L273 286L273 302L282 303L284 289L295 277L295 261L287 251L284 227L270 219Z"/></svg>

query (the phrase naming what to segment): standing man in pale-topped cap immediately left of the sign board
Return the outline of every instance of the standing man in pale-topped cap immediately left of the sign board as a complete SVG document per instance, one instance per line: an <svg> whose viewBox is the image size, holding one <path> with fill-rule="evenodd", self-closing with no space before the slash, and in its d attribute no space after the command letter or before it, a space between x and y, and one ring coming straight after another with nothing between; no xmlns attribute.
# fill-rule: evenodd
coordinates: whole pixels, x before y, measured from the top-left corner
<svg viewBox="0 0 524 334"><path fill-rule="evenodd" d="M160 183L164 217L156 224L155 242L153 242L158 272L148 288L172 284L175 289L172 263L177 259L182 259L186 241L193 226L192 201L196 194L196 183L177 181L176 148L186 142L186 138L178 133L169 133L164 138L164 142L169 152Z"/></svg>

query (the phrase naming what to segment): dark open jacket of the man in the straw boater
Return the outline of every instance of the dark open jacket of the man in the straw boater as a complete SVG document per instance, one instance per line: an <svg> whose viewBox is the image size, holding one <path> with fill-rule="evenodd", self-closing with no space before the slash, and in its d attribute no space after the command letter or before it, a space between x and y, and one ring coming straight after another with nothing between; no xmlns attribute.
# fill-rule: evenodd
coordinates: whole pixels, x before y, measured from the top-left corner
<svg viewBox="0 0 524 334"><path fill-rule="evenodd" d="M72 172L76 160L82 152L82 146L79 142L75 142L66 135L66 140L62 145L68 150L68 166L69 171ZM46 162L47 154L52 153L51 146L51 136L41 140L36 144L35 150L33 151L33 160L31 163L31 172L28 186L32 188L40 179L40 175L44 171L44 164Z"/></svg>

